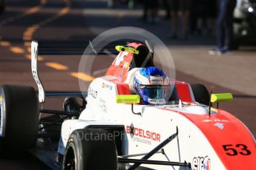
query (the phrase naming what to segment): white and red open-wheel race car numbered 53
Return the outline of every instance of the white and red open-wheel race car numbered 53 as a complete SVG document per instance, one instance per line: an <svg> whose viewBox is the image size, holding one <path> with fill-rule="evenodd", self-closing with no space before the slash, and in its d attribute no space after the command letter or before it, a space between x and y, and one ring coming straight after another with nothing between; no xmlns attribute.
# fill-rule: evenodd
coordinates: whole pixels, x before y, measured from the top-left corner
<svg viewBox="0 0 256 170"><path fill-rule="evenodd" d="M52 169L256 169L255 137L232 114L212 106L231 101L232 94L170 80L168 103L140 103L128 81L142 63L154 66L147 45L117 46L113 64L88 92L45 92L37 71L39 54L83 50L40 50L36 41L31 47L39 94L30 86L0 87L1 156L30 149ZM58 96L67 97L64 110L39 109L38 101Z"/></svg>

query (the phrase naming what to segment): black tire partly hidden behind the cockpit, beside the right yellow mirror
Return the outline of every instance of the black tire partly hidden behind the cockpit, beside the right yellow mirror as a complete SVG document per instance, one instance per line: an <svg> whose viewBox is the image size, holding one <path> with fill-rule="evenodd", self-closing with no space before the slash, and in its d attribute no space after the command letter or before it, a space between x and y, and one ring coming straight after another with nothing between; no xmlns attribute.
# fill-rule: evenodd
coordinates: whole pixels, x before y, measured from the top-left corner
<svg viewBox="0 0 256 170"><path fill-rule="evenodd" d="M190 84L190 86L194 94L194 100L209 106L210 94L206 86L203 84Z"/></svg>

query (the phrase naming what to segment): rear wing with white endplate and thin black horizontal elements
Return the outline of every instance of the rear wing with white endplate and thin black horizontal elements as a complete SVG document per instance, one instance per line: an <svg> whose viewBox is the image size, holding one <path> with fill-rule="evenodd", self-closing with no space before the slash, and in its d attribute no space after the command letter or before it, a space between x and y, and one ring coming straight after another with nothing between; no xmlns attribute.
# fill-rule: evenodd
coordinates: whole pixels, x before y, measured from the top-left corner
<svg viewBox="0 0 256 170"><path fill-rule="evenodd" d="M89 41L91 49L77 49L77 48L62 48L62 49L53 49L53 48L39 48L39 43L37 41L32 41L31 43L31 70L34 80L36 81L36 86L39 90L39 103L45 103L45 97L62 97L62 96L83 96L86 95L86 92L45 92L42 81L39 77L38 72L38 56L39 55L117 55L119 52L114 49L100 49L95 50L91 42Z"/></svg>

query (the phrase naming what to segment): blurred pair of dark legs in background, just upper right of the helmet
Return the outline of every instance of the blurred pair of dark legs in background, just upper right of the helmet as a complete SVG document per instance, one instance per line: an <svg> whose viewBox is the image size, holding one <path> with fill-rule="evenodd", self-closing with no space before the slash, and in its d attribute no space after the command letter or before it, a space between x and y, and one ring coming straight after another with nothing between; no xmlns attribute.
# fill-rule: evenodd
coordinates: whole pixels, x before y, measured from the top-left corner
<svg viewBox="0 0 256 170"><path fill-rule="evenodd" d="M178 13L181 12L182 38L188 38L188 17L191 7L191 0L170 0L171 8L171 38L175 39L178 35Z"/></svg>

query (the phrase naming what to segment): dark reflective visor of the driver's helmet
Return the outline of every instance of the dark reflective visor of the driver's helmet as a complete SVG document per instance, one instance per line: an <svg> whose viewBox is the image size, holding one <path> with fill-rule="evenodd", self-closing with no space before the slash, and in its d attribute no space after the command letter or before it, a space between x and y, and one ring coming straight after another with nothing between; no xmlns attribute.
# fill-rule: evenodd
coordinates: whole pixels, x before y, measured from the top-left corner
<svg viewBox="0 0 256 170"><path fill-rule="evenodd" d="M165 99L168 86L165 85L140 85L143 94L151 99Z"/></svg>

